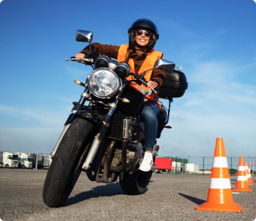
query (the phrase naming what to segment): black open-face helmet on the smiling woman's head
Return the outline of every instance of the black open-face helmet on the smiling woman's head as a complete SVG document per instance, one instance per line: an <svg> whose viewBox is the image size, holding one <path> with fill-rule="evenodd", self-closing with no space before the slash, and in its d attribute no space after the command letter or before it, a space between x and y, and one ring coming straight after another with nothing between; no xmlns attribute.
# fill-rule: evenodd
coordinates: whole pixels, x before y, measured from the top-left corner
<svg viewBox="0 0 256 221"><path fill-rule="evenodd" d="M137 29L143 29L152 32L152 37L147 45L147 52L154 48L156 41L159 39L158 30L155 26L155 23L150 21L147 18L141 18L136 20L134 23L131 24L131 27L128 29L129 34L129 45L132 48L135 48L135 41L134 41L134 31Z"/></svg>

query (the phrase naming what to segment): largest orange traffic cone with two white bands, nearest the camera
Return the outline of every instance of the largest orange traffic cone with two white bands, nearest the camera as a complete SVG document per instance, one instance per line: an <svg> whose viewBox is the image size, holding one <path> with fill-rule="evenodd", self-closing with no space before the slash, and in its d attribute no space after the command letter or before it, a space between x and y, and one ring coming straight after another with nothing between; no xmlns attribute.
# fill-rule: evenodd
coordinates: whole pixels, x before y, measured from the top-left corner
<svg viewBox="0 0 256 221"><path fill-rule="evenodd" d="M216 139L214 162L207 202L196 210L242 212L243 208L233 202L226 152L222 138Z"/></svg>

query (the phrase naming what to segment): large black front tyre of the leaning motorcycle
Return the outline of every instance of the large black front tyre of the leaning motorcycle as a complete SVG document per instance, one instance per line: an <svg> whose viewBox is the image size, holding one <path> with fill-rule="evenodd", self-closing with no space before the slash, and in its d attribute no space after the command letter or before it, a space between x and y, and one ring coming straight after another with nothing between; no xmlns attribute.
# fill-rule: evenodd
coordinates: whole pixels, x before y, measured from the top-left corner
<svg viewBox="0 0 256 221"><path fill-rule="evenodd" d="M60 207L69 197L94 136L95 125L82 118L74 119L64 134L43 186L43 201L49 207Z"/></svg>

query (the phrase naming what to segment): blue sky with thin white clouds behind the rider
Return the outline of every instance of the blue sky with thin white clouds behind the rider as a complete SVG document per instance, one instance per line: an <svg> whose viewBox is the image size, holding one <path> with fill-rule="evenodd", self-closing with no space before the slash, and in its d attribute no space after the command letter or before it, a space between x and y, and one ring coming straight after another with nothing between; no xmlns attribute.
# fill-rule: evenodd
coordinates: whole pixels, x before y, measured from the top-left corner
<svg viewBox="0 0 256 221"><path fill-rule="evenodd" d="M0 151L50 153L89 66L66 62L87 44L128 43L138 18L158 27L155 49L189 83L174 99L160 156L256 157L256 3L253 0L3 0L0 3ZM164 102L167 104L167 102Z"/></svg>

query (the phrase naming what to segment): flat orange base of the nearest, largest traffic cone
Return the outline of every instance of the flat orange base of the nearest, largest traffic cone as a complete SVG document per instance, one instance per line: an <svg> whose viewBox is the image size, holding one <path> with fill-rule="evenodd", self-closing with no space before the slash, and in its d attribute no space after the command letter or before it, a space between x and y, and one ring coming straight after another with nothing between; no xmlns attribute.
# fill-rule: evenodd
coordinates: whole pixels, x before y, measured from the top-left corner
<svg viewBox="0 0 256 221"><path fill-rule="evenodd" d="M205 202L196 207L196 210L221 211L221 212L242 212L243 207L236 203L232 204L214 204Z"/></svg>

